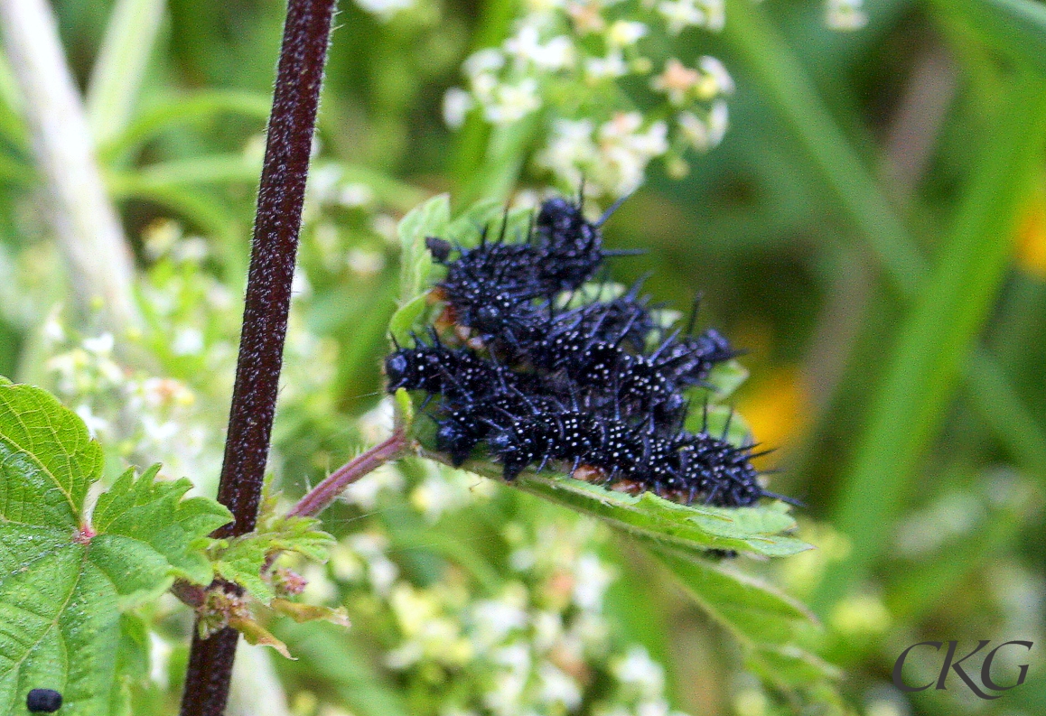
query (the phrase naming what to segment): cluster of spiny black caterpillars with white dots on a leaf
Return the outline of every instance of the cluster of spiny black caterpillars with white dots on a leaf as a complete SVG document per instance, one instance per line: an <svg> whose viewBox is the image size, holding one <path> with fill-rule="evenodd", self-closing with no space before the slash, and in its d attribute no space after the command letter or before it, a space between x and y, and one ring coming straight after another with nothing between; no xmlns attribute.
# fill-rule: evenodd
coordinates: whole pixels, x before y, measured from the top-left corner
<svg viewBox="0 0 1046 716"><path fill-rule="evenodd" d="M632 493L751 505L771 494L751 465L753 446L709 434L707 420L697 433L683 428L685 391L736 354L729 342L713 329L660 327L639 283L561 307L613 255L600 227L615 208L589 222L579 203L551 199L522 241L505 240L507 220L475 248L429 237L447 268L434 295L463 345L430 328L413 347L397 346L385 362L388 390L429 394L436 447L455 465L484 443L509 481L556 463Z"/></svg>

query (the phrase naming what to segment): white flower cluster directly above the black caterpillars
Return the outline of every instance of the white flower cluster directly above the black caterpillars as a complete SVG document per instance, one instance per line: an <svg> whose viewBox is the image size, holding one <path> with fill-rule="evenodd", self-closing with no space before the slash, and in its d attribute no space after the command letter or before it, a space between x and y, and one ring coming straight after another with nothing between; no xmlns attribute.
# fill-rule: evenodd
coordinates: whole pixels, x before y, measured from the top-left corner
<svg viewBox="0 0 1046 716"><path fill-rule="evenodd" d="M705 152L722 141L733 80L711 56L695 67L674 56L655 61L643 54L643 41L687 27L715 31L723 23L723 0L531 0L500 47L465 60L467 89L447 92L445 119L456 129L477 111L507 125L547 109L538 167L571 187L584 176L593 195L634 190L656 158L681 176L686 149ZM617 85L627 76L645 77L654 93L645 115L629 109Z"/></svg>

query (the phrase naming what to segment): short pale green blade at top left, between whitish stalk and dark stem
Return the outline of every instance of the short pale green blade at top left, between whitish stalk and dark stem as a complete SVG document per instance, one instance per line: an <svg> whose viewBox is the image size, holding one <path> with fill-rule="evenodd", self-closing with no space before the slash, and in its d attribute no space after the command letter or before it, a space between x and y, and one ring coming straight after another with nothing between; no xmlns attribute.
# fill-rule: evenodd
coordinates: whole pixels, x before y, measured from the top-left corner
<svg viewBox="0 0 1046 716"><path fill-rule="evenodd" d="M87 120L101 144L131 118L150 55L160 31L164 0L118 0L87 90Z"/></svg>

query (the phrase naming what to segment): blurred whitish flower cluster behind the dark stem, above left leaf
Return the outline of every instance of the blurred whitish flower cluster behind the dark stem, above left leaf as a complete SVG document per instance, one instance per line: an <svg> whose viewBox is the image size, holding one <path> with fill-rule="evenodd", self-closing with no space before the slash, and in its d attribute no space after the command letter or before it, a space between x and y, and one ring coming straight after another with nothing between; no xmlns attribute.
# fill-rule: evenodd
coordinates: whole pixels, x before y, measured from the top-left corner
<svg viewBox="0 0 1046 716"><path fill-rule="evenodd" d="M203 239L183 235L174 222L161 222L146 230L143 240L154 260L139 282L144 329L127 338L120 353L111 333L74 334L55 310L42 326L43 373L35 377L79 415L106 448L112 470L119 461L140 467L158 462L161 476L190 477L197 493L213 494L241 304L203 268L208 258ZM298 281L298 291L303 284L308 281ZM298 298L292 304L280 387L283 414L299 419L334 412L327 386L337 357L331 339L306 330L302 309ZM154 356L147 370L136 360L146 353ZM278 466L273 460L273 468Z"/></svg>

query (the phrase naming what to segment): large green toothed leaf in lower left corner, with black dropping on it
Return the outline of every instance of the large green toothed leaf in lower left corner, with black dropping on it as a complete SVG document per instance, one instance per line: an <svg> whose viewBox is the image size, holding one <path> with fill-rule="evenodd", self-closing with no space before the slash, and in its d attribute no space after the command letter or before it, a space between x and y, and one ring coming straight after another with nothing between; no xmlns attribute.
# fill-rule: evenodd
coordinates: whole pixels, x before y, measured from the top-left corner
<svg viewBox="0 0 1046 716"><path fill-rule="evenodd" d="M201 549L228 523L188 480L124 474L85 509L101 448L46 391L0 380L0 713L30 689L61 691L67 716L119 713L135 640L121 613L175 579L211 579Z"/></svg>

